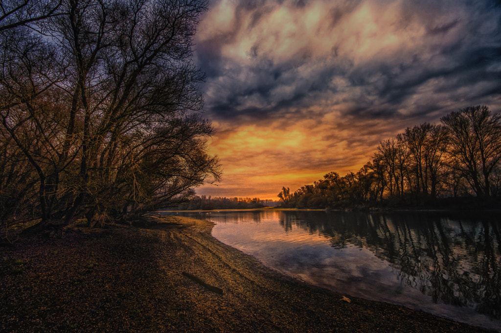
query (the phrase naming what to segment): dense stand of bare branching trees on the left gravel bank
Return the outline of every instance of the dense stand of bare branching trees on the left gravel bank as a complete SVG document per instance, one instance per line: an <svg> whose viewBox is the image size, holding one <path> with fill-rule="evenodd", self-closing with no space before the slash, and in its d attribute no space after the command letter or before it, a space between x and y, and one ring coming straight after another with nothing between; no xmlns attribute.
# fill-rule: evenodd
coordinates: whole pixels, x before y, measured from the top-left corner
<svg viewBox="0 0 501 333"><path fill-rule="evenodd" d="M6 0L0 226L120 221L221 175L192 40L205 0Z"/></svg>

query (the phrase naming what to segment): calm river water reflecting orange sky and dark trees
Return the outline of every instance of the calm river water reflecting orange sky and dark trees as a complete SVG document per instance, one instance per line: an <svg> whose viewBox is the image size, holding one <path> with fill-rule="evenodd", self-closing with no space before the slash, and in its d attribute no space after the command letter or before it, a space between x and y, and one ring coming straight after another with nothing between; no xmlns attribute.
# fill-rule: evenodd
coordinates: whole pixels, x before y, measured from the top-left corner
<svg viewBox="0 0 501 333"><path fill-rule="evenodd" d="M284 274L501 331L499 214L182 214L216 223L215 238Z"/></svg>

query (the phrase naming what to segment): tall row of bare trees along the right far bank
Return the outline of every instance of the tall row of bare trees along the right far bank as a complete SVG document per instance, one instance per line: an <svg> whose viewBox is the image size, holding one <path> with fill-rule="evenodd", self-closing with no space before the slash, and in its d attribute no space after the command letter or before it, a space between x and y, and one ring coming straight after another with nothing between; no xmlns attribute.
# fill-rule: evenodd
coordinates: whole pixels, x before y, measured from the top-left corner
<svg viewBox="0 0 501 333"><path fill-rule="evenodd" d="M501 115L487 106L461 109L441 124L408 127L381 141L357 173L336 172L278 197L283 207L421 205L439 198L501 196Z"/></svg>

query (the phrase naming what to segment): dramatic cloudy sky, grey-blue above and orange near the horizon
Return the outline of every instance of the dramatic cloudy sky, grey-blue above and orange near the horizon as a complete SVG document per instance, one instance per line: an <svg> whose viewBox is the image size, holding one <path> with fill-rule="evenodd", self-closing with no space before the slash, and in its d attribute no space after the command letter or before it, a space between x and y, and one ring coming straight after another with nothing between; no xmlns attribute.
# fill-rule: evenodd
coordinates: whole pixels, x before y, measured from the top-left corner
<svg viewBox="0 0 501 333"><path fill-rule="evenodd" d="M210 0L194 43L223 170L197 195L278 200L407 127L501 111L499 0Z"/></svg>

